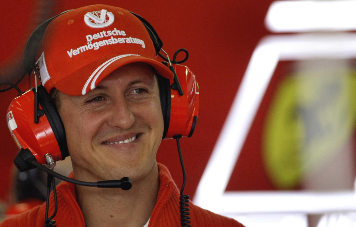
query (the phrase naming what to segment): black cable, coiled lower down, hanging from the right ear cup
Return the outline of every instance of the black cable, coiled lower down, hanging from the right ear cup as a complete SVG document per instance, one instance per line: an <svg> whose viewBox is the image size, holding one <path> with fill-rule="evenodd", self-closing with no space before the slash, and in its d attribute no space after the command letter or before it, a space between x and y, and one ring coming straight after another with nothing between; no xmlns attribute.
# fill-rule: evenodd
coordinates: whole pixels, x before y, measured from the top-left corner
<svg viewBox="0 0 356 227"><path fill-rule="evenodd" d="M185 175L185 168L184 168L184 163L183 163L183 156L182 156L182 152L180 151L180 144L179 144L179 139L182 138L182 135L179 135L179 134L174 135L173 138L176 139L176 141L177 141L179 160L180 160L180 165L182 166L182 171L183 171L183 183L182 183L182 188L180 189L180 197L179 197L180 224L182 225L182 227L190 227L189 195L183 195L183 191L185 188L186 175Z"/></svg>

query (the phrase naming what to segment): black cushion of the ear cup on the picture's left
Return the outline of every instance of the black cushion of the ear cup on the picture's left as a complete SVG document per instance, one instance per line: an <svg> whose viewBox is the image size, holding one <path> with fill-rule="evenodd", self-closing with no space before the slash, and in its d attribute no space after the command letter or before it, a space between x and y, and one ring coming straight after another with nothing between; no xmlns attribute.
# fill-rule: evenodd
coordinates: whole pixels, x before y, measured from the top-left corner
<svg viewBox="0 0 356 227"><path fill-rule="evenodd" d="M37 87L38 102L41 104L43 111L48 119L49 125L56 136L59 149L61 150L62 160L69 156L66 132L64 131L63 122L57 111L56 105L47 93L46 89L40 85Z"/></svg>

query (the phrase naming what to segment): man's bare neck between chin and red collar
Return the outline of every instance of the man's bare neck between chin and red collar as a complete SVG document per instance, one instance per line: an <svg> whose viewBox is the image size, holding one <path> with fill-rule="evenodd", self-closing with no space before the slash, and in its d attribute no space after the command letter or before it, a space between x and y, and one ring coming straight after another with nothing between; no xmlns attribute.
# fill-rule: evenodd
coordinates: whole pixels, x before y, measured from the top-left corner
<svg viewBox="0 0 356 227"><path fill-rule="evenodd" d="M157 165L148 178L132 182L128 191L76 185L77 201L87 227L142 227L156 205L159 189Z"/></svg>

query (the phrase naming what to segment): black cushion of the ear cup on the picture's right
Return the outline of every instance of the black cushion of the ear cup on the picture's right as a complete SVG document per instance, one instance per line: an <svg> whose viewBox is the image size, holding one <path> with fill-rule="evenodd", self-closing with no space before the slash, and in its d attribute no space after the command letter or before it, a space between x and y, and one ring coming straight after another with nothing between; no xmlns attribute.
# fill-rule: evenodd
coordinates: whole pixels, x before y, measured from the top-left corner
<svg viewBox="0 0 356 227"><path fill-rule="evenodd" d="M166 137L169 127L169 121L171 120L171 83L169 79L158 75L158 87L159 87L159 99L161 100L161 108L164 121L163 137Z"/></svg>

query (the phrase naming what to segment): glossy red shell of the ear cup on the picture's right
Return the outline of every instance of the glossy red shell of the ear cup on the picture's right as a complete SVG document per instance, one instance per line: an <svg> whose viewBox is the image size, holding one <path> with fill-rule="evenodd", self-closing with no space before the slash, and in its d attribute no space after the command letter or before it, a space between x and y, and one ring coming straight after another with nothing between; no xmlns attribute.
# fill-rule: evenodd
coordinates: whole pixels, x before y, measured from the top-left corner
<svg viewBox="0 0 356 227"><path fill-rule="evenodd" d="M168 131L164 137L166 139L173 138L177 134L191 137L198 118L199 86L195 75L184 65L174 64L173 67L176 70L183 95L179 95L178 90L169 86L170 114ZM169 83L173 84L174 80L170 80Z"/></svg>

